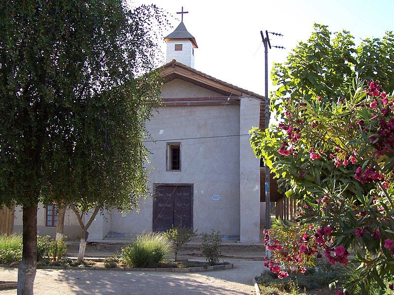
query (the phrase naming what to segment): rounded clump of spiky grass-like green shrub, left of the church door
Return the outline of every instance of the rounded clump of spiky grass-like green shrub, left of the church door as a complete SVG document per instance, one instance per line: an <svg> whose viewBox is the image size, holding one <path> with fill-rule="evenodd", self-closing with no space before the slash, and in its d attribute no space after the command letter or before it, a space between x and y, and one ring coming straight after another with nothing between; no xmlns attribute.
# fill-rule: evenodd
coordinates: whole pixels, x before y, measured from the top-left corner
<svg viewBox="0 0 394 295"><path fill-rule="evenodd" d="M141 234L122 248L122 259L126 266L152 267L161 262L171 250L171 244L163 234Z"/></svg>

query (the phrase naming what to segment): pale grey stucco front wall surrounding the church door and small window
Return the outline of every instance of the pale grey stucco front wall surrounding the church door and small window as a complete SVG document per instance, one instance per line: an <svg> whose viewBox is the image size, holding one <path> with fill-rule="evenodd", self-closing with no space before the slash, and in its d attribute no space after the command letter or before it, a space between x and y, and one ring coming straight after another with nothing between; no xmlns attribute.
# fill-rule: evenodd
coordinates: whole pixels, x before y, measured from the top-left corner
<svg viewBox="0 0 394 295"><path fill-rule="evenodd" d="M239 137L183 139L239 134L239 106L161 107L159 112L146 126L157 141L146 143L152 152L151 192L155 183L192 183L194 228L239 235ZM181 171L166 171L167 142L181 143ZM213 201L212 195L220 195L220 201ZM152 231L152 206L152 197L147 197L139 213L122 216L113 211L111 231Z"/></svg>

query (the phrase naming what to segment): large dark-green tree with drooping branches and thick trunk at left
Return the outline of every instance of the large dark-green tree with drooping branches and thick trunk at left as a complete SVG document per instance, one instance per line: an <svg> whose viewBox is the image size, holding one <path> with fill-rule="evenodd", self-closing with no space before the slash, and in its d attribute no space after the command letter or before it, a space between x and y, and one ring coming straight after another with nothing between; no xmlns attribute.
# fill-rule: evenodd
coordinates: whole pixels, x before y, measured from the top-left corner
<svg viewBox="0 0 394 295"><path fill-rule="evenodd" d="M1 2L0 205L23 207L18 294L33 294L38 202L123 209L146 192L163 25L121 0Z"/></svg>

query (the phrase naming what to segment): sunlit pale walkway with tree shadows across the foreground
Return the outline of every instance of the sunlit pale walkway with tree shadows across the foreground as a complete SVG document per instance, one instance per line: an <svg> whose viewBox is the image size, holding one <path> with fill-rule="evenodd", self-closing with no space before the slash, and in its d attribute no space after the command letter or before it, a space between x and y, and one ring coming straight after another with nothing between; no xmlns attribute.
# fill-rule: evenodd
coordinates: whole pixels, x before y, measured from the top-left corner
<svg viewBox="0 0 394 295"><path fill-rule="evenodd" d="M254 294L252 279L262 261L231 260L233 269L197 273L38 269L34 294ZM0 280L17 279L17 269L0 267ZM0 291L14 295L16 290Z"/></svg>

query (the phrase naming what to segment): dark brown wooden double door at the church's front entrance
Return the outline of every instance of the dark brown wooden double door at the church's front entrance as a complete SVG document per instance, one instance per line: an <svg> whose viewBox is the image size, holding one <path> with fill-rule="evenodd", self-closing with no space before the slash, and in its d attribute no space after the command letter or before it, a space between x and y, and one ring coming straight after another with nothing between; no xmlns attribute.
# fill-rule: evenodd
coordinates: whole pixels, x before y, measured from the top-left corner
<svg viewBox="0 0 394 295"><path fill-rule="evenodd" d="M193 228L193 185L157 184L153 200L153 231L165 232L181 223Z"/></svg>

